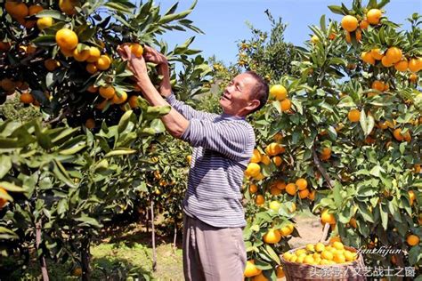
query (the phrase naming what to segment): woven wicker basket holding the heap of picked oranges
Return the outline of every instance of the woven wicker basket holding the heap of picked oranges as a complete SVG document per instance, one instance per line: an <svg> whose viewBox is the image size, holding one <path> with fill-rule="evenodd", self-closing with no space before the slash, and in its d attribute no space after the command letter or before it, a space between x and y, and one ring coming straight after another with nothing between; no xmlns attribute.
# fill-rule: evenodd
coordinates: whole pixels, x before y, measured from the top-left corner
<svg viewBox="0 0 422 281"><path fill-rule="evenodd" d="M289 253L295 252L299 247L288 251ZM356 253L356 250L352 247L345 246L346 250ZM355 261L347 262L345 264L336 265L310 265L303 263L296 263L286 261L282 255L280 255L281 264L283 271L286 275L287 281L296 280L366 280L363 276L365 264L361 253L358 254L358 258Z"/></svg>

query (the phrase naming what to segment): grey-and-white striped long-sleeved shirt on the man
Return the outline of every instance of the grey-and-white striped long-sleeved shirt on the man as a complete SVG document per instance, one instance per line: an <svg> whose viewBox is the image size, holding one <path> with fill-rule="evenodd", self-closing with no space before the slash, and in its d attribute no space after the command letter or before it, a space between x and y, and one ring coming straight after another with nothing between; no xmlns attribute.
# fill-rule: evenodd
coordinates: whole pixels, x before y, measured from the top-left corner
<svg viewBox="0 0 422 281"><path fill-rule="evenodd" d="M190 121L181 137L194 148L184 212L216 228L244 227L240 190L256 142L252 126L239 116L195 110L174 94L166 100Z"/></svg>

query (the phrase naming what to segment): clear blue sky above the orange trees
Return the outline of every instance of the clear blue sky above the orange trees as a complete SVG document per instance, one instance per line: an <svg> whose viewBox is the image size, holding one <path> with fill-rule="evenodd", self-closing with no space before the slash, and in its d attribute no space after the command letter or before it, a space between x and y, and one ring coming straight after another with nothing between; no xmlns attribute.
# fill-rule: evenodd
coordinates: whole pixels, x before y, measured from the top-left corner
<svg viewBox="0 0 422 281"><path fill-rule="evenodd" d="M177 12L188 9L193 1L181 0ZM347 7L352 6L351 0L344 0ZM379 0L378 0L379 2ZM161 11L175 3L173 0L158 0ZM363 0L362 4L368 1ZM183 44L189 36L196 36L191 44L194 49L202 50L205 58L216 55L217 59L225 63L236 60L237 45L241 39L248 39L251 33L246 25L250 22L254 27L263 30L270 29L270 22L264 13L269 9L275 19L282 18L288 24L285 40L301 45L310 38L310 25L319 25L321 14L327 19L341 20L342 16L329 11L328 5L341 4L336 0L199 0L188 19L205 35L193 32L173 31L164 36L164 40L173 47ZM384 8L385 15L392 21L406 24L413 12L422 13L422 0L391 0Z"/></svg>

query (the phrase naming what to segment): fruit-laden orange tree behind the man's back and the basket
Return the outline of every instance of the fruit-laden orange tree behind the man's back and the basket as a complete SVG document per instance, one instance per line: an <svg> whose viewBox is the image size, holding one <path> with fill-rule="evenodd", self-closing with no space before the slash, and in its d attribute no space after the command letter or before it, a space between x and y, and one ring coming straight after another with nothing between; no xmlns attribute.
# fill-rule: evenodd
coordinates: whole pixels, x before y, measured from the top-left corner
<svg viewBox="0 0 422 281"><path fill-rule="evenodd" d="M341 23L322 16L306 48L296 49L301 59L291 73L271 76L271 100L253 118L258 142L246 173L246 277L282 276L266 248L273 241L275 253L288 248L292 232L283 227L296 209L320 216L345 245L400 250L366 254L370 266L419 269L420 16L400 30L380 10L387 3L329 6ZM256 205L268 214L249 212Z"/></svg>

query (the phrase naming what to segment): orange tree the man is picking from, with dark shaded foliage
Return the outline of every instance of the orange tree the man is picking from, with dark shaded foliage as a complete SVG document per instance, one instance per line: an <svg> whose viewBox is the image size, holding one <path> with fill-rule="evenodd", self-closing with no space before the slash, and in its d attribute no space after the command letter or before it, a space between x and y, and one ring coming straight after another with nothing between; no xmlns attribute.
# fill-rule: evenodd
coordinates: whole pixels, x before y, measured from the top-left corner
<svg viewBox="0 0 422 281"><path fill-rule="evenodd" d="M16 112L2 110L0 239L2 255L12 261L2 272L25 265L37 248L43 277L45 258L51 258L74 261L89 278L89 245L104 222L134 202L148 206L144 198L160 188L150 181L158 168L165 169L164 186L182 177L179 166L166 165L164 157L158 155L158 164L151 159L157 157L152 148L167 141L156 134L164 132L159 116L169 108L147 105L116 52L118 44L130 44L135 55L142 55L142 44L157 45L169 61L185 66L173 76L179 86L174 92L203 92L207 65L200 56L190 59L199 52L189 48L192 39L174 50L158 43L166 30L200 32L186 19L191 9L176 8L160 14L152 1L135 7L129 1L66 0L2 6L2 103L16 96L42 116L20 124L8 120ZM153 66L150 76L159 83ZM179 149L187 153L175 146L172 151Z"/></svg>

